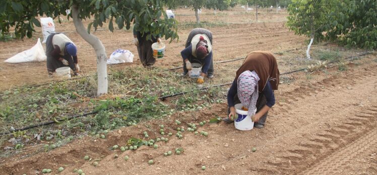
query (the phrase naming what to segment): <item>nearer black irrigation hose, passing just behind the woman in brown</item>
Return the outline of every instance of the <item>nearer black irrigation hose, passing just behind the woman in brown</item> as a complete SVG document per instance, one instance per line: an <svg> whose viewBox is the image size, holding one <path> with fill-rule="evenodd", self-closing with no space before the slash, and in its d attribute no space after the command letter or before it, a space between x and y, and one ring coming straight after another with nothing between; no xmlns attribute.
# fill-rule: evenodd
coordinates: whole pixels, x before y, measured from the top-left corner
<svg viewBox="0 0 377 175"><path fill-rule="evenodd" d="M356 55L356 56L349 56L349 57L346 57L344 59L351 59L351 58L355 58L355 57L359 57L359 56L364 56L364 55L368 55L368 54L371 54L371 52L366 52L366 53L359 54L359 55ZM303 71L303 70L306 70L306 68L301 68L301 69L297 69L297 70L293 70L293 71L289 71L289 72L280 73L280 75L290 74L290 73L294 73L294 72L298 72L298 71ZM172 94L172 95L168 95L168 96L159 97L158 99L161 100L161 101L164 101L164 100L166 100L166 98L170 98L170 97L174 97L174 96L179 96L179 95L187 94L187 93L194 92L194 91L206 90L206 89L210 89L210 88L217 88L217 87L224 86L224 85L230 85L232 83L233 82L224 83L224 84L218 84L218 85L212 85L212 86L207 86L207 87L204 87L204 88L195 89L193 91L186 91L186 92L181 92L181 93L177 93L177 94ZM91 115L91 114L97 114L97 113L98 113L98 111L92 111L92 112L89 112L89 113L84 113L84 114L81 114L81 115L76 115L76 116L70 117L68 119L60 119L60 120L57 120L57 122L62 122L62 121L65 121L65 120L71 120L71 119L74 119L74 118L80 118L80 117L84 117L84 116ZM45 123L41 123L41 124L37 124L37 125L27 126L25 128L14 129L13 131L2 132L2 133L0 133L0 135L7 135L7 134L11 134L12 132L23 131L23 130L27 130L27 129L31 129L31 128L35 128L35 127L39 127L39 126L50 125L50 124L53 124L55 122L56 121L49 121L49 122L45 122Z"/></svg>

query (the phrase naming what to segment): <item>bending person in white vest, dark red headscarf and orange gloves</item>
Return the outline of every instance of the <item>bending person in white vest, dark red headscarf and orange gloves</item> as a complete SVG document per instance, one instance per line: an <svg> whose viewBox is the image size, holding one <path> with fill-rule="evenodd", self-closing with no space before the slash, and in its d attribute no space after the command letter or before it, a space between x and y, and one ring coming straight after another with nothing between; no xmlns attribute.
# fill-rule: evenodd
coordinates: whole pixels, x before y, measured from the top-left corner
<svg viewBox="0 0 377 175"><path fill-rule="evenodd" d="M212 33L207 29L193 29L185 47L180 52L183 58L182 75L185 76L193 68L192 62L198 62L202 64L202 73L197 82L202 84L206 75L208 78L213 78Z"/></svg>

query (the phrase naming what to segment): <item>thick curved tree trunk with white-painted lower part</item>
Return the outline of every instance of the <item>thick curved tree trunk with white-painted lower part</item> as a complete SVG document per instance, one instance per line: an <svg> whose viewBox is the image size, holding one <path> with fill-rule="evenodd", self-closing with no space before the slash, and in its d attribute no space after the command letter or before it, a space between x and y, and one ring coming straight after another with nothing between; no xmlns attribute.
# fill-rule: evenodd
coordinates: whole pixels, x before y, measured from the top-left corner
<svg viewBox="0 0 377 175"><path fill-rule="evenodd" d="M72 6L72 18L77 33L79 33L79 35L86 42L92 45L97 54L97 96L107 94L107 56L105 52L105 47L103 46L101 40L87 32L87 29L84 27L82 19L79 18L79 7L77 5Z"/></svg>

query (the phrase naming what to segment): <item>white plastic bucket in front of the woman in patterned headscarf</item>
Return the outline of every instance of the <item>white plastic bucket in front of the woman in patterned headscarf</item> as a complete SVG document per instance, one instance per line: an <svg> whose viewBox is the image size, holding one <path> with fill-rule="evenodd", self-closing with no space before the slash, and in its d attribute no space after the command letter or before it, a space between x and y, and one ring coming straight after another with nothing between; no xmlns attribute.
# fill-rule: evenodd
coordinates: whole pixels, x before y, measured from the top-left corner
<svg viewBox="0 0 377 175"><path fill-rule="evenodd" d="M257 108L252 115L247 115L247 111L242 110L242 104L240 103L234 105L234 108L236 109L237 113L237 118L234 120L234 127L242 131L252 130L254 128L252 116L257 112Z"/></svg>

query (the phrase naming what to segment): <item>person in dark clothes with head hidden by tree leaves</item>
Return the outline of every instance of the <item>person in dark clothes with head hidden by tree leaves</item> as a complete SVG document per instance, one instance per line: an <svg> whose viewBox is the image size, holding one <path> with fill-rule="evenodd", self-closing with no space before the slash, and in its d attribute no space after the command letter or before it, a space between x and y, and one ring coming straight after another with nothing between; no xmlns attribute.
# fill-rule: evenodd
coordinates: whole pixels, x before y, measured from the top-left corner
<svg viewBox="0 0 377 175"><path fill-rule="evenodd" d="M152 67L156 62L153 57L152 44L155 42L160 43L160 34L155 38L153 35L150 40L147 40L147 35L150 33L141 33L134 28L134 44L138 48L139 58L144 67Z"/></svg>

